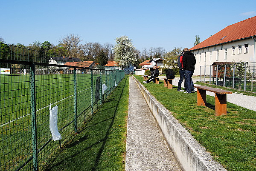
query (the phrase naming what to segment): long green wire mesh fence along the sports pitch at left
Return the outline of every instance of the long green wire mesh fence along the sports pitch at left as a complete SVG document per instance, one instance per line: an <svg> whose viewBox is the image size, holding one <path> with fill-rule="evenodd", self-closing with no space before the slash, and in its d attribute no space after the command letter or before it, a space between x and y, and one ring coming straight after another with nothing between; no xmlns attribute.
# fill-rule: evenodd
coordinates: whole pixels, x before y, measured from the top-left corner
<svg viewBox="0 0 256 171"><path fill-rule="evenodd" d="M0 50L0 170L40 170L125 75L3 43ZM58 105L59 141L49 129L50 104Z"/></svg>

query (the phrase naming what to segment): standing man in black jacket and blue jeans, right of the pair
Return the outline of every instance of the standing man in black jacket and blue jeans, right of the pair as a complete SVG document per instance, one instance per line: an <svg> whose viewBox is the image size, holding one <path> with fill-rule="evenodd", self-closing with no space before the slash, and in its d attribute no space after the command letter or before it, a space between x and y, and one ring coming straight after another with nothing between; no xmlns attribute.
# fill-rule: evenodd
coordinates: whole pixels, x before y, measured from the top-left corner
<svg viewBox="0 0 256 171"><path fill-rule="evenodd" d="M195 55L192 54L192 52L189 51L188 48L184 48L182 63L183 63L183 69L185 70L184 76L185 76L185 84L187 88L187 91L185 91L185 93L194 93L195 88L192 81L192 75L195 70L196 60L195 60Z"/></svg>

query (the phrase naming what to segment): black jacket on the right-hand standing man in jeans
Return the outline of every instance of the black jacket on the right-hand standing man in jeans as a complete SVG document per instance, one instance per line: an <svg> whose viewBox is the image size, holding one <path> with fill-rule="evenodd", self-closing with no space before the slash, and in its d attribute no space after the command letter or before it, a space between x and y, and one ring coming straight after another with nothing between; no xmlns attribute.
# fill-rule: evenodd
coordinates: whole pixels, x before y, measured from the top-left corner
<svg viewBox="0 0 256 171"><path fill-rule="evenodd" d="M192 54L191 51L185 51L183 58L182 58L182 62L183 62L183 68L184 70L188 70L188 71L194 71L195 70L195 55Z"/></svg>

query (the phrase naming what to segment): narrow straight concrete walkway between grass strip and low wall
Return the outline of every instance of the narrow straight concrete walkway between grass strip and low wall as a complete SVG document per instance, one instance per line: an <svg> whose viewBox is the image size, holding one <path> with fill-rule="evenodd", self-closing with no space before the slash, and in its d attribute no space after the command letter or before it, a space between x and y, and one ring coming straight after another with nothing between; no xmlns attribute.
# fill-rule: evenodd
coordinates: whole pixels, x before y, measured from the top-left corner
<svg viewBox="0 0 256 171"><path fill-rule="evenodd" d="M125 171L180 171L140 89L129 79Z"/></svg>

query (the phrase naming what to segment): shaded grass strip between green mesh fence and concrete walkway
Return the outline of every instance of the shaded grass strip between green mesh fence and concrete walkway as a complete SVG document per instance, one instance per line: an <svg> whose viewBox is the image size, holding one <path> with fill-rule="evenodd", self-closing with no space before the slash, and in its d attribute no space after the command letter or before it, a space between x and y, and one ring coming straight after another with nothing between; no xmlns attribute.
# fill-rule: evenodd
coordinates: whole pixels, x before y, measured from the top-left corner
<svg viewBox="0 0 256 171"><path fill-rule="evenodd" d="M45 170L123 171L128 116L129 77L125 76L98 111L89 117Z"/></svg>

